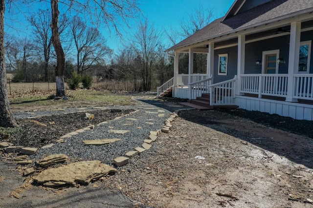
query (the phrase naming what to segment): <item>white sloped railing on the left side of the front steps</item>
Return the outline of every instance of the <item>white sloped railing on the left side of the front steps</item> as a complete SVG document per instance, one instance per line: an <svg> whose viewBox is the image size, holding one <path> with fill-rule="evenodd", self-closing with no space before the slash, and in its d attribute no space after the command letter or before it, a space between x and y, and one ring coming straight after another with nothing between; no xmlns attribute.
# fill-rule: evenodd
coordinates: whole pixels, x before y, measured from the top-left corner
<svg viewBox="0 0 313 208"><path fill-rule="evenodd" d="M209 78L189 83L190 98L197 98L202 95L202 93L210 93L209 86L212 84L212 75Z"/></svg>

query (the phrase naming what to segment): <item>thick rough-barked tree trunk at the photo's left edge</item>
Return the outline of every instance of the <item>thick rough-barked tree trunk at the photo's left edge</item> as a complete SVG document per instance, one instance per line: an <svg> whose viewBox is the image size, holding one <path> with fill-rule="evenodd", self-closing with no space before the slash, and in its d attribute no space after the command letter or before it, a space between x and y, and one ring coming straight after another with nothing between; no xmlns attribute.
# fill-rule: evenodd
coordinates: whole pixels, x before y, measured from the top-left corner
<svg viewBox="0 0 313 208"><path fill-rule="evenodd" d="M4 11L5 2L0 2L0 126L13 127L17 124L10 112L10 103L6 89L6 70L4 60Z"/></svg>

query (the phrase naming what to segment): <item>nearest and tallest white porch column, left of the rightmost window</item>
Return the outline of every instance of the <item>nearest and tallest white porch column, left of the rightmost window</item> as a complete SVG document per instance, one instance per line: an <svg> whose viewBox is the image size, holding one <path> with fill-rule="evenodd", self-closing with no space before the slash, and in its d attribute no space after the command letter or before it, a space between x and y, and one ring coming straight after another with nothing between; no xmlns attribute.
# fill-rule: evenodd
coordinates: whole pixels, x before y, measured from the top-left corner
<svg viewBox="0 0 313 208"><path fill-rule="evenodd" d="M288 63L288 85L287 85L287 102L298 102L293 97L293 74L297 73L299 67L299 50L300 50L301 22L291 22L290 43L289 43L289 63Z"/></svg>

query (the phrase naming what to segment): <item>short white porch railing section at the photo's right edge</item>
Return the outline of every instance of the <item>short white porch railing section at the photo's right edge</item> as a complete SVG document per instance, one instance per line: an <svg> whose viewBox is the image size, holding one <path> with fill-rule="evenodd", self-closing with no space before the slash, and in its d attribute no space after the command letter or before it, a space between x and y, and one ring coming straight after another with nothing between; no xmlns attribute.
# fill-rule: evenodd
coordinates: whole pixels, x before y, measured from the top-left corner
<svg viewBox="0 0 313 208"><path fill-rule="evenodd" d="M293 98L313 100L313 74L294 74L293 86Z"/></svg>

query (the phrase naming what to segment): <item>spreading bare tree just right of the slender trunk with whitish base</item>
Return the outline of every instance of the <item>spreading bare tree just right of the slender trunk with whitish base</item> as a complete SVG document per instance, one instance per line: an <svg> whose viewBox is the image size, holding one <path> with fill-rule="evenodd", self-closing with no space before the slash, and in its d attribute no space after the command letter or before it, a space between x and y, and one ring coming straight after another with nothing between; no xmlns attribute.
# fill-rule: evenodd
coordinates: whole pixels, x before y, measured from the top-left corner
<svg viewBox="0 0 313 208"><path fill-rule="evenodd" d="M77 72L83 73L92 65L105 62L110 57L106 40L95 27L87 27L80 17L75 16L70 22L70 31L76 48Z"/></svg>

